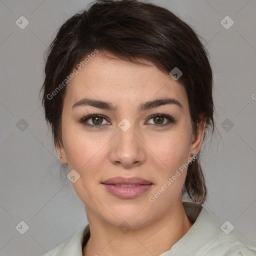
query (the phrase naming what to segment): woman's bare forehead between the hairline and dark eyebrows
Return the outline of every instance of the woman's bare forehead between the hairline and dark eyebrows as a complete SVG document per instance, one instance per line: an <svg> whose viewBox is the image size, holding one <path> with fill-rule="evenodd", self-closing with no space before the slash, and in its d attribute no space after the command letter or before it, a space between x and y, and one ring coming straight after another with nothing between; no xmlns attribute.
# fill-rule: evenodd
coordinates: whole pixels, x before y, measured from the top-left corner
<svg viewBox="0 0 256 256"><path fill-rule="evenodd" d="M171 96L178 101L187 101L181 83L163 73L150 61L140 59L136 64L117 58L96 54L66 85L64 101L70 105L82 97L127 102L146 101Z"/></svg>

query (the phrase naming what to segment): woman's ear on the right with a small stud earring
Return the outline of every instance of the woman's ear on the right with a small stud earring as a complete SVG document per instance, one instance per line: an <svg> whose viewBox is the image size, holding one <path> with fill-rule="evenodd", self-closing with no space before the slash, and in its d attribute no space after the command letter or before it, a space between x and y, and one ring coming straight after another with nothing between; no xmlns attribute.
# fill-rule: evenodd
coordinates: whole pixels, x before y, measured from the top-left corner
<svg viewBox="0 0 256 256"><path fill-rule="evenodd" d="M200 115L201 121L197 123L197 132L196 135L192 134L191 137L191 144L189 148L189 155L188 155L188 161L192 159L191 153L198 153L198 151L201 148L202 145L202 140L203 140L203 134L204 134L204 128L205 128L205 123L207 120L207 117L204 114Z"/></svg>

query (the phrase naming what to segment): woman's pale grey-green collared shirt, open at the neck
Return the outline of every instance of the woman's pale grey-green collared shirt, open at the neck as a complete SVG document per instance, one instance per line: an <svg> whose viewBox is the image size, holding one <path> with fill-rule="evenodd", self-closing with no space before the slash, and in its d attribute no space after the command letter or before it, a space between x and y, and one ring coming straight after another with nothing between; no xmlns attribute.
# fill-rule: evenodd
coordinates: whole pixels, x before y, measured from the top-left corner
<svg viewBox="0 0 256 256"><path fill-rule="evenodd" d="M220 225L200 204L183 201L193 223L172 247L159 256L255 256L256 240L236 233L230 222ZM90 237L89 224L71 238L42 256L82 256L82 246Z"/></svg>

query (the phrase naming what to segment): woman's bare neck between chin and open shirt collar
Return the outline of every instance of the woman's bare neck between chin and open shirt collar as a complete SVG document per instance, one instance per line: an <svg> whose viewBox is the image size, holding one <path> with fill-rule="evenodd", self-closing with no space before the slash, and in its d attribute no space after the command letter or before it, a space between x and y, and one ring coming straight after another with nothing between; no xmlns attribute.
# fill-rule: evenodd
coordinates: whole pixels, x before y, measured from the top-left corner
<svg viewBox="0 0 256 256"><path fill-rule="evenodd" d="M174 205L173 205L174 206ZM192 226L179 202L159 219L140 228L120 232L86 209L90 238L83 247L83 256L160 255L169 250Z"/></svg>

